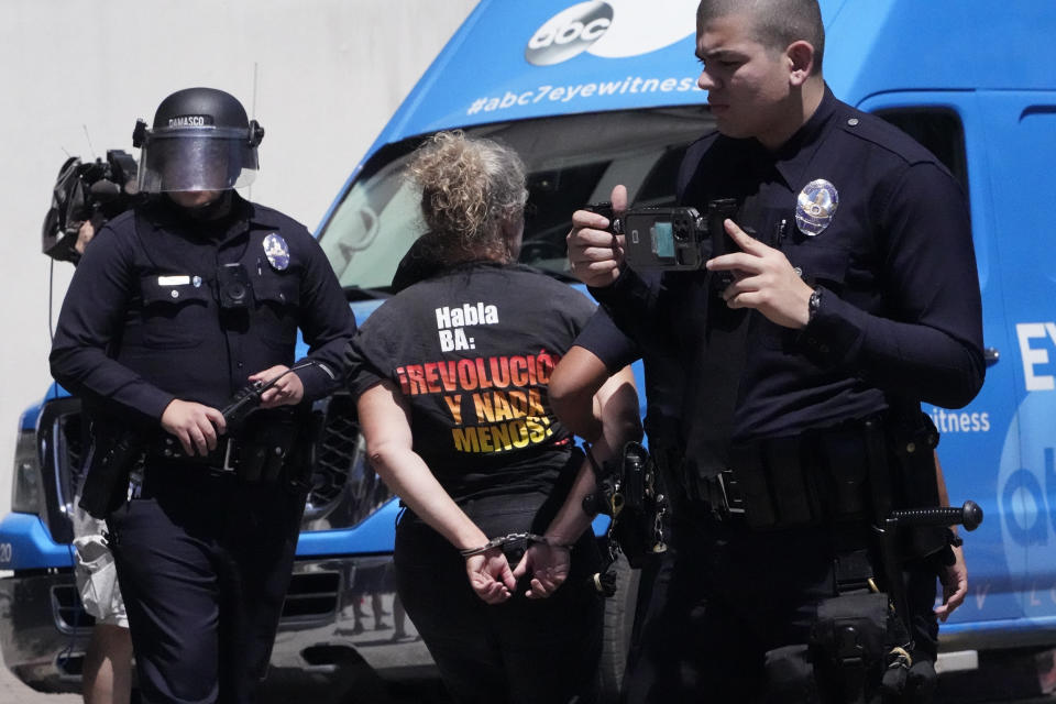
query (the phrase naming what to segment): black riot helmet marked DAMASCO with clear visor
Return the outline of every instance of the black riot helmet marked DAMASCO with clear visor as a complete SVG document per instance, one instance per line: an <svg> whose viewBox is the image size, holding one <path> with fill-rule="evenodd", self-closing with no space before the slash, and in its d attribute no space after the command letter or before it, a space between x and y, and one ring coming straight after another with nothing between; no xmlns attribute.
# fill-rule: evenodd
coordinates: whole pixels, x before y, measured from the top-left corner
<svg viewBox="0 0 1056 704"><path fill-rule="evenodd" d="M215 88L178 90L157 107L153 127L135 123L139 188L160 194L249 186L262 139L264 129L246 118L234 96Z"/></svg>

